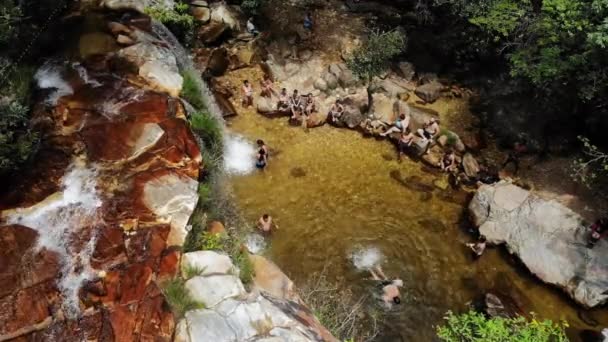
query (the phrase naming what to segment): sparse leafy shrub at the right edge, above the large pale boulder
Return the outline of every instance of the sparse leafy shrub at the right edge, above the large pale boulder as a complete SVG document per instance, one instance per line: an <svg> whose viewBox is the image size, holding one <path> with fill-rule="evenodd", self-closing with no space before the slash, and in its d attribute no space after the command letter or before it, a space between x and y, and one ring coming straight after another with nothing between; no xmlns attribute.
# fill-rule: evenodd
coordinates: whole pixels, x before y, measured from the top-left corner
<svg viewBox="0 0 608 342"><path fill-rule="evenodd" d="M578 137L583 144L583 156L574 160L572 177L591 189L606 189L608 183L608 153L593 145L588 138Z"/></svg>

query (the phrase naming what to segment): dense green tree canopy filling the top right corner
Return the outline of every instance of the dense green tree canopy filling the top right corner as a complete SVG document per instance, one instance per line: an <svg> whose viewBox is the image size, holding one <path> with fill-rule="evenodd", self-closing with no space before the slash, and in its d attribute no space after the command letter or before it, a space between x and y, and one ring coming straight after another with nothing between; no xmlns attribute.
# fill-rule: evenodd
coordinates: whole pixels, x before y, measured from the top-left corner
<svg viewBox="0 0 608 342"><path fill-rule="evenodd" d="M606 0L435 0L500 46L511 75L552 94L578 89L582 101L605 102L608 88ZM485 34L485 37L482 37ZM486 48L491 48L487 44Z"/></svg>

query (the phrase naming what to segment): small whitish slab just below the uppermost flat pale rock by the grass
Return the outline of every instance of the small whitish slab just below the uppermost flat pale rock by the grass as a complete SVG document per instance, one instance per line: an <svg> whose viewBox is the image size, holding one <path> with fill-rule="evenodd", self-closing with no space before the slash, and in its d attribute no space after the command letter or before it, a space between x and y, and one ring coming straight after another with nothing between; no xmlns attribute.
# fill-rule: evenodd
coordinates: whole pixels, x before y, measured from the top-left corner
<svg viewBox="0 0 608 342"><path fill-rule="evenodd" d="M241 280L233 275L194 277L186 282L186 288L193 299L208 308L213 308L224 299L245 294Z"/></svg>

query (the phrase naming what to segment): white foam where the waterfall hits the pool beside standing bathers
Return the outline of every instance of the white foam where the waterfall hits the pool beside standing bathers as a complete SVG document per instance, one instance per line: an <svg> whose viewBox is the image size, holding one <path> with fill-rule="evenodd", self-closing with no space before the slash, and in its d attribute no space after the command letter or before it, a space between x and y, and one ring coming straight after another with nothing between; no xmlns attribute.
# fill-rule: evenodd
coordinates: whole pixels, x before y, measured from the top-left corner
<svg viewBox="0 0 608 342"><path fill-rule="evenodd" d="M243 137L226 134L224 137L224 169L233 175L245 175L255 170L255 148Z"/></svg>

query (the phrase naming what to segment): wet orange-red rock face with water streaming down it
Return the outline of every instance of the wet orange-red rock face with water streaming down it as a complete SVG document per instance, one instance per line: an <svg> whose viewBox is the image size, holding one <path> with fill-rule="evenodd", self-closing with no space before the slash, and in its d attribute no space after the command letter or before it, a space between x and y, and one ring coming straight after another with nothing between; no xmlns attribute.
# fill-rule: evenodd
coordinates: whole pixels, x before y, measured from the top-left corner
<svg viewBox="0 0 608 342"><path fill-rule="evenodd" d="M72 95L36 106L42 153L0 196L0 340L171 340L175 322L159 284L177 272L175 246L196 205L200 151L179 101L107 71L90 77L101 85L74 80ZM95 170L100 200L82 220L69 217L80 204L63 191L76 159ZM57 203L69 204L53 209ZM38 211L14 211L30 206ZM55 232L54 220L8 224L34 212L55 215L47 209L72 225L58 251L40 242ZM66 270L91 275L77 291L76 316L66 307Z"/></svg>

